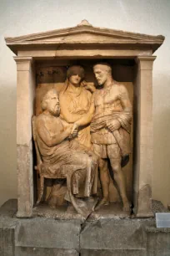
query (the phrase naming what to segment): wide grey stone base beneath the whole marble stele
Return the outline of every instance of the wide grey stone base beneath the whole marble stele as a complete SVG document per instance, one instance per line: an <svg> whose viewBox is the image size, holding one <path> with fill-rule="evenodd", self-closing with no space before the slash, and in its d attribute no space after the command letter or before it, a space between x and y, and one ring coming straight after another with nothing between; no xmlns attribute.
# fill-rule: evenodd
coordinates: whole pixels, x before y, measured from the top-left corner
<svg viewBox="0 0 170 256"><path fill-rule="evenodd" d="M155 212L159 209L154 204ZM17 200L0 208L0 256L169 256L170 228L154 218L16 218Z"/></svg>

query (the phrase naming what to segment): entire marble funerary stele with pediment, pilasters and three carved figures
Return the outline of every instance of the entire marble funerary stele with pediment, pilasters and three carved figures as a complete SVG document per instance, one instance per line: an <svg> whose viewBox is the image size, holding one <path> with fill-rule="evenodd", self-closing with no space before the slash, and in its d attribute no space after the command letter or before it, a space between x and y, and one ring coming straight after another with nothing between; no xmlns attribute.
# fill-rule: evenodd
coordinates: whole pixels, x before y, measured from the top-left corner
<svg viewBox="0 0 170 256"><path fill-rule="evenodd" d="M6 38L17 55L18 218L153 216L153 53L163 40L86 20Z"/></svg>

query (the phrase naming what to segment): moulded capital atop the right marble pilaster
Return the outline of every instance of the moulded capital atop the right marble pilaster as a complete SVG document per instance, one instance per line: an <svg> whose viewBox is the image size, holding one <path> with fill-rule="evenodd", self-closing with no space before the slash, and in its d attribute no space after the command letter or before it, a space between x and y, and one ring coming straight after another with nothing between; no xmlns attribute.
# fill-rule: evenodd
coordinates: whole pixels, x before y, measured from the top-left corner
<svg viewBox="0 0 170 256"><path fill-rule="evenodd" d="M140 70L153 70L153 61L157 56L138 56L135 61Z"/></svg>

